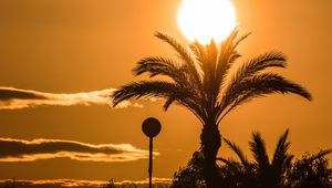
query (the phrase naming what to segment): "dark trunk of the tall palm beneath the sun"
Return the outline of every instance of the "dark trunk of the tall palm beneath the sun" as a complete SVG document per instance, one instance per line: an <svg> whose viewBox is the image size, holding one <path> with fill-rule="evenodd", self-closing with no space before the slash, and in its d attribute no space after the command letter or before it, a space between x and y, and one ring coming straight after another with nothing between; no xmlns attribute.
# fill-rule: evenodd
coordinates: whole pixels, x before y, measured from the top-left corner
<svg viewBox="0 0 332 188"><path fill-rule="evenodd" d="M206 124L200 134L201 152L204 155L204 176L207 188L218 187L218 166L216 158L221 146L221 138L216 123ZM219 185L220 186L220 185Z"/></svg>

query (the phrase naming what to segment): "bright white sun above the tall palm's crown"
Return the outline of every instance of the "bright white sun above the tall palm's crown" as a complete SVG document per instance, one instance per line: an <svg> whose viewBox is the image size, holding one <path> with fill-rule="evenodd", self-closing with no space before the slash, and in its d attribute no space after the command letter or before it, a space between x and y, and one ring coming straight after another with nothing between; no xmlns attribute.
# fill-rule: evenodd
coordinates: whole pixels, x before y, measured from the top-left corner
<svg viewBox="0 0 332 188"><path fill-rule="evenodd" d="M178 25L189 40L207 44L227 38L237 25L230 0L184 0L178 9Z"/></svg>

